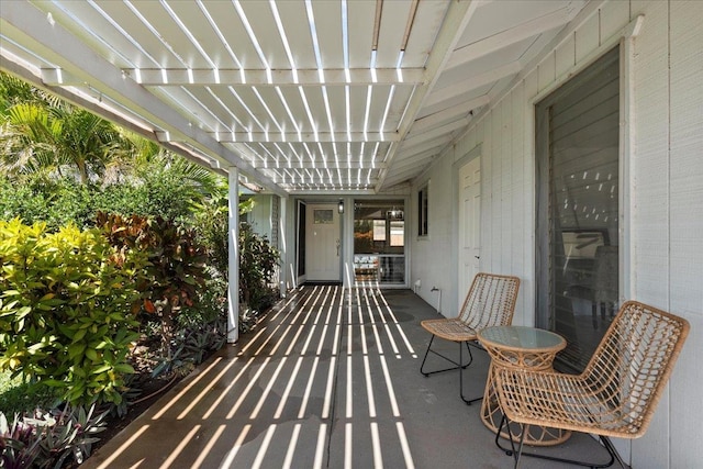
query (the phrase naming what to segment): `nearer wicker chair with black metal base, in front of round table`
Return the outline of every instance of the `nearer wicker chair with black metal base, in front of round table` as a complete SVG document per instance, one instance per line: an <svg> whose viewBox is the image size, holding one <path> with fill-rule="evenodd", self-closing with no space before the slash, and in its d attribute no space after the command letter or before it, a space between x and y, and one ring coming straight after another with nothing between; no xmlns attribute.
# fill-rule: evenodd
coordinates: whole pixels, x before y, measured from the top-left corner
<svg viewBox="0 0 703 469"><path fill-rule="evenodd" d="M513 450L506 451L514 457L515 468L522 455L522 425L599 435L611 460L596 465L544 454L525 456L588 467L609 467L616 458L627 467L609 437L638 438L645 434L689 327L681 317L629 301L622 305L581 375L496 370L504 413L499 434L504 425L510 432L511 422L521 424L517 449L511 437Z"/></svg>

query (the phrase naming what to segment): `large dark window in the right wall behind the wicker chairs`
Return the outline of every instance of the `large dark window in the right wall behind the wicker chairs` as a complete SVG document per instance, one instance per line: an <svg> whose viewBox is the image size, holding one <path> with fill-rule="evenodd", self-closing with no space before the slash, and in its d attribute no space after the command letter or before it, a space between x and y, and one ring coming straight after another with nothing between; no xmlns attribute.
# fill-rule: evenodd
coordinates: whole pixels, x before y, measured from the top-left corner
<svg viewBox="0 0 703 469"><path fill-rule="evenodd" d="M568 343L580 371L618 302L620 51L535 107L537 324Z"/></svg>

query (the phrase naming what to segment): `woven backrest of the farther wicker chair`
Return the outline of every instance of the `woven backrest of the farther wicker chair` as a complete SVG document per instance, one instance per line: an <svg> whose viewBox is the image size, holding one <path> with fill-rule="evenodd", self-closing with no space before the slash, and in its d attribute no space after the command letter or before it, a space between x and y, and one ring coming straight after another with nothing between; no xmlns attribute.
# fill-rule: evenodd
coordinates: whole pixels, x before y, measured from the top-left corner
<svg viewBox="0 0 703 469"><path fill-rule="evenodd" d="M459 320L473 331L510 325L515 312L520 279L479 272L459 310Z"/></svg>

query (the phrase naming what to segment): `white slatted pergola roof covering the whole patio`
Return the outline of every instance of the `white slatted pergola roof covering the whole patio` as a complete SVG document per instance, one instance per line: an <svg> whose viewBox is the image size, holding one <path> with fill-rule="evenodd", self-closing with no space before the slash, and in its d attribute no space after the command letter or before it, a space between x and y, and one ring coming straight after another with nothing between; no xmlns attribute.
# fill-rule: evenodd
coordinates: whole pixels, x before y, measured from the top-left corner
<svg viewBox="0 0 703 469"><path fill-rule="evenodd" d="M417 177L585 0L12 1L0 67L279 194Z"/></svg>

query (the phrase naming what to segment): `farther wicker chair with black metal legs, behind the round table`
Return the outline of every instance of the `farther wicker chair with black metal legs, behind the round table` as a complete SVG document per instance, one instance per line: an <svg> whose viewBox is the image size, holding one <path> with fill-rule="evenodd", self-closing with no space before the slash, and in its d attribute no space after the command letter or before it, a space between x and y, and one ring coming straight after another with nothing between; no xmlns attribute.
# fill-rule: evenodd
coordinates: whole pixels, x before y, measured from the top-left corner
<svg viewBox="0 0 703 469"><path fill-rule="evenodd" d="M493 273L478 273L473 278L471 288L464 300L464 305L459 311L458 317L437 319L422 321L420 324L432 334L425 357L420 366L420 372L425 377L438 372L459 370L459 397L467 404L479 401L483 397L476 399L467 399L464 395L464 373L462 370L471 365L473 356L469 345L481 348L477 342L477 332L483 327L494 325L507 325L513 320L515 311L515 301L517 300L517 290L520 289L520 279L517 277L499 276ZM445 355L432 349L432 343L435 337L445 340L451 340L459 344L459 361L455 361ZM469 361L464 364L464 344L469 350ZM451 362L454 367L426 371L425 362L427 355L433 353L445 360Z"/></svg>

